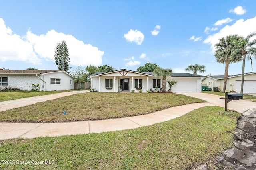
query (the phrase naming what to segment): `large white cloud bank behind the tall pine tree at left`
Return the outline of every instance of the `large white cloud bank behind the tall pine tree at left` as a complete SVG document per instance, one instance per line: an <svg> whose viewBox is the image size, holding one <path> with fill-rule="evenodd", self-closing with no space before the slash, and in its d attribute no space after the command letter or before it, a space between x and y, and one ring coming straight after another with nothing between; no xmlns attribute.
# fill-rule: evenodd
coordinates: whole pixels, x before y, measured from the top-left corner
<svg viewBox="0 0 256 170"><path fill-rule="evenodd" d="M58 33L55 30L43 35L36 35L28 30L25 36L20 37L20 35L12 34L12 30L5 26L2 18L0 18L0 37L1 61L27 61L38 64L43 59L53 60L56 45L63 40L67 43L72 65L100 66L104 55L104 51L100 51L97 47L84 44L72 35Z"/></svg>

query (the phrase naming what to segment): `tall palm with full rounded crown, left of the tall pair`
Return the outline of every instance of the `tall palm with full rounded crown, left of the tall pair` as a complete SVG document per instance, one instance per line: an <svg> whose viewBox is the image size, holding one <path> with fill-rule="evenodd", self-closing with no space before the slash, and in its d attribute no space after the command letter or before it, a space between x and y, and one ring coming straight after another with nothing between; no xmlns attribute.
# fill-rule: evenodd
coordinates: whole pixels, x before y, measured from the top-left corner
<svg viewBox="0 0 256 170"><path fill-rule="evenodd" d="M242 60L241 55L234 53L234 51L238 49L238 41L241 38L242 37L238 36L237 34L228 35L226 37L220 38L220 42L214 45L214 47L217 49L214 54L216 61L218 63L225 63L224 85L222 89L223 93L226 91L229 64Z"/></svg>

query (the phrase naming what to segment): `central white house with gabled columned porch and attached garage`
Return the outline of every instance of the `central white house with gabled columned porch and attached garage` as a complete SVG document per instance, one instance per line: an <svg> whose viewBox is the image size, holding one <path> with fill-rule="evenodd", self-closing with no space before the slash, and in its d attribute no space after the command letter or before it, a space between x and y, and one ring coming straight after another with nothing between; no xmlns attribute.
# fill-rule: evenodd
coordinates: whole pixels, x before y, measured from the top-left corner
<svg viewBox="0 0 256 170"><path fill-rule="evenodd" d="M201 92L201 79L204 76L190 73L173 73L167 76L167 80L177 80L178 83L172 87L172 92ZM131 70L116 70L112 72L97 72L90 75L92 88L99 92L118 92L119 86L122 90L131 91L141 88L143 92L162 86L162 76L154 76L152 72L136 72ZM166 83L166 90L169 89ZM136 90L137 91L137 90ZM138 92L138 91L137 91Z"/></svg>

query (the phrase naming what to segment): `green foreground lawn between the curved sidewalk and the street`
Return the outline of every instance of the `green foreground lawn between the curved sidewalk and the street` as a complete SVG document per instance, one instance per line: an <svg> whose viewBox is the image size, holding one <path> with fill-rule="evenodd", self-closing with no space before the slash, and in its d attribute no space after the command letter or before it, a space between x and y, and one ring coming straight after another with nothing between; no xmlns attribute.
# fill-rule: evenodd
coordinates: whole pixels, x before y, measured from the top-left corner
<svg viewBox="0 0 256 170"><path fill-rule="evenodd" d="M240 113L201 107L155 125L98 134L0 141L0 169L171 169L202 164L232 147ZM30 164L18 165L16 161ZM54 164L31 164L31 161Z"/></svg>

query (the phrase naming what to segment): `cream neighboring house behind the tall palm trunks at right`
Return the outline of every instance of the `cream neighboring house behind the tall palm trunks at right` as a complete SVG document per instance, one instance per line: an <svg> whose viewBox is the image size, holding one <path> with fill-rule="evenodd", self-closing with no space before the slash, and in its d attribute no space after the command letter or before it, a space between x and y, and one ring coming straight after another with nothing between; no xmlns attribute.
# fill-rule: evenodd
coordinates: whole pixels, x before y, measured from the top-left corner
<svg viewBox="0 0 256 170"><path fill-rule="evenodd" d="M226 92L235 91L240 93L242 74L228 75ZM222 91L224 85L224 75L220 76L206 76L203 78L202 84L209 86L210 88L218 87L219 91ZM243 93L256 93L256 72L250 72L244 74L244 89Z"/></svg>

